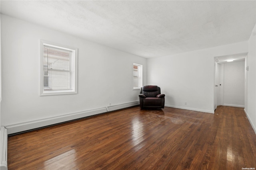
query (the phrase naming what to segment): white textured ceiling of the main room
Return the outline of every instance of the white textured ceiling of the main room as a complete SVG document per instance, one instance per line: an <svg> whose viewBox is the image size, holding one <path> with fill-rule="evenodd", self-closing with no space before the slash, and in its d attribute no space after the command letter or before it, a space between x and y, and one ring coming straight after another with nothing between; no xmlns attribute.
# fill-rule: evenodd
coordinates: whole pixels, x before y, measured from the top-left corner
<svg viewBox="0 0 256 170"><path fill-rule="evenodd" d="M247 41L256 1L5 1L1 13L150 58Z"/></svg>

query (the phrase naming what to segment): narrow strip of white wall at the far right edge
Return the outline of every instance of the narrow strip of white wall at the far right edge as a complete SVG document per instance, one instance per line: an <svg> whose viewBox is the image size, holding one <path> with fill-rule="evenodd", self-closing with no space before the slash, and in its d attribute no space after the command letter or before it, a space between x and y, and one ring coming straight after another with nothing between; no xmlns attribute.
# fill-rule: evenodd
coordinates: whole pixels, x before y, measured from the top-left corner
<svg viewBox="0 0 256 170"><path fill-rule="evenodd" d="M246 70L246 84L247 94L245 95L247 103L245 104L244 111L254 128L256 133L256 25L252 30L252 34L248 41L249 51L246 57L246 66L249 66L249 70Z"/></svg>

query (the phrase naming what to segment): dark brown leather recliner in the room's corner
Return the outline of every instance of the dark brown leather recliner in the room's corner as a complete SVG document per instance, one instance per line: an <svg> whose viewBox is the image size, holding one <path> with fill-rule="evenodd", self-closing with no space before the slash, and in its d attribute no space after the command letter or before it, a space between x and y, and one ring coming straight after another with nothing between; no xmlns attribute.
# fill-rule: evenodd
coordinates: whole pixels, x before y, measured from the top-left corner
<svg viewBox="0 0 256 170"><path fill-rule="evenodd" d="M140 108L164 108L164 96L158 86L143 86L140 88Z"/></svg>

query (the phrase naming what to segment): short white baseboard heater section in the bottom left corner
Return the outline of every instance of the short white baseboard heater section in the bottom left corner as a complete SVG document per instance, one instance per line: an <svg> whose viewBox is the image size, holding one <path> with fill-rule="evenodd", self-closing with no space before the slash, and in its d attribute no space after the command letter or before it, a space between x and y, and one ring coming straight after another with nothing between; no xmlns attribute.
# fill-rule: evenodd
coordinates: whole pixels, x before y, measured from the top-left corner
<svg viewBox="0 0 256 170"><path fill-rule="evenodd" d="M1 126L0 128L0 140L1 140L1 170L7 170L7 140L8 140L8 135L7 135L7 129L4 126Z"/></svg>

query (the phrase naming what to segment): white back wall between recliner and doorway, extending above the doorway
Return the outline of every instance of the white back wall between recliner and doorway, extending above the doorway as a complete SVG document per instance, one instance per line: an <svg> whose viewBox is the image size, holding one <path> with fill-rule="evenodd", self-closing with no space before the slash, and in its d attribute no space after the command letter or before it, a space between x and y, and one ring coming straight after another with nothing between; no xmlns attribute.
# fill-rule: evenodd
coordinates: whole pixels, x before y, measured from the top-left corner
<svg viewBox="0 0 256 170"><path fill-rule="evenodd" d="M148 59L148 84L161 87L166 106L214 113L214 57L247 52L244 41Z"/></svg>

